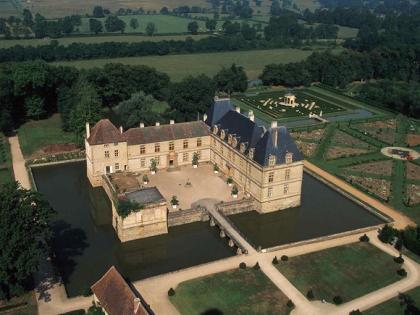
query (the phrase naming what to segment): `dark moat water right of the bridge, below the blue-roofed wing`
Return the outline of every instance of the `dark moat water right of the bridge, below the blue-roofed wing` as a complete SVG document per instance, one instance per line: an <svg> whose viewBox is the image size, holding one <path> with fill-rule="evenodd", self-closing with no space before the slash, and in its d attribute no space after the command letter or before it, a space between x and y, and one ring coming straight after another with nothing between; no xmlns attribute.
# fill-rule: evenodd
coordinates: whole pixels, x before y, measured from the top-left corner
<svg viewBox="0 0 420 315"><path fill-rule="evenodd" d="M254 247L273 247L384 223L384 220L305 173L302 204L268 214L229 216Z"/></svg>

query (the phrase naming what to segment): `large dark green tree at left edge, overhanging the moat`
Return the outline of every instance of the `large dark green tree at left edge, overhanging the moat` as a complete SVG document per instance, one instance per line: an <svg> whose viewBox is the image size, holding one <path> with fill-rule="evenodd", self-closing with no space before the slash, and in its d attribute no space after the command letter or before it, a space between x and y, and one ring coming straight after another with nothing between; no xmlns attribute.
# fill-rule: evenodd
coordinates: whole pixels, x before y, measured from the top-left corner
<svg viewBox="0 0 420 315"><path fill-rule="evenodd" d="M54 210L17 182L0 186L0 299L23 293L48 254Z"/></svg>

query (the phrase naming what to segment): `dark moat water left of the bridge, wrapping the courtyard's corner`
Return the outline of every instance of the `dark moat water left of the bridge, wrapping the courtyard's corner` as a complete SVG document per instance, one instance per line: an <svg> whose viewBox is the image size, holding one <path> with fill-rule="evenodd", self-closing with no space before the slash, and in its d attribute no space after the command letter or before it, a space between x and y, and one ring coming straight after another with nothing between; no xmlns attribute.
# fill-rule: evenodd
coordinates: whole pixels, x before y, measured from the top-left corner
<svg viewBox="0 0 420 315"><path fill-rule="evenodd" d="M120 243L102 188L92 189L84 162L33 168L38 191L56 210L55 262L69 296L76 296L115 265L130 281L235 255L207 223L173 227L166 235Z"/></svg>

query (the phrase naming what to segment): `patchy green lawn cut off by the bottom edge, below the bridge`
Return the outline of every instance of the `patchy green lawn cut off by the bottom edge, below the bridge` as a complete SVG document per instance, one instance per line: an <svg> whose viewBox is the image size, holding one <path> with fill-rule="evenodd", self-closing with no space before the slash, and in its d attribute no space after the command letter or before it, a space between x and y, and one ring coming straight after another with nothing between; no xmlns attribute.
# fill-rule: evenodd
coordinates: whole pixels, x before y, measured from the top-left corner
<svg viewBox="0 0 420 315"><path fill-rule="evenodd" d="M287 297L264 273L252 268L182 282L175 292L170 300L182 315L204 314L209 310L229 315L289 313Z"/></svg>

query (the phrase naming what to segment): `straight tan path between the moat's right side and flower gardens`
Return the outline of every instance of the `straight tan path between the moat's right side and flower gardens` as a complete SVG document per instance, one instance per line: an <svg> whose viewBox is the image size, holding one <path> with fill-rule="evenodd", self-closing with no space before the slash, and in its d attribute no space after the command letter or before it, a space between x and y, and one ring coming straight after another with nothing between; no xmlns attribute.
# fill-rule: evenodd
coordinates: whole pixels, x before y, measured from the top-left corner
<svg viewBox="0 0 420 315"><path fill-rule="evenodd" d="M328 182L336 185L338 188L342 189L346 193L354 196L355 198L365 202L369 206L377 209L378 211L386 214L387 216L391 217L394 220L394 226L398 229L404 229L408 225L415 226L416 223L411 220L409 217L403 215L399 211L384 205L380 201L369 197L365 193L361 192L360 190L354 188L353 186L347 184L345 181L331 175L330 173L324 171L323 169L319 168L318 166L308 162L307 160L304 161L304 166L309 171L321 176L322 178L326 179Z"/></svg>

